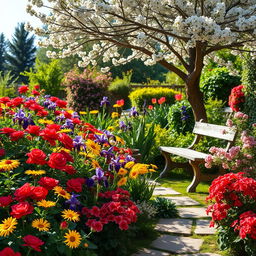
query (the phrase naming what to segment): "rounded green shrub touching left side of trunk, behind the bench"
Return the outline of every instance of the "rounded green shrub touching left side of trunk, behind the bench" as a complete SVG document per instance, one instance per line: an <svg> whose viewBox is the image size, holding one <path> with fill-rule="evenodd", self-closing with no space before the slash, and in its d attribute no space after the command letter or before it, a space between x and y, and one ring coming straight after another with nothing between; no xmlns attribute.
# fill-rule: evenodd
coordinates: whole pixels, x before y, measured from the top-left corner
<svg viewBox="0 0 256 256"><path fill-rule="evenodd" d="M179 134L192 132L195 125L193 111L187 100L177 101L173 104L167 118L170 129Z"/></svg>

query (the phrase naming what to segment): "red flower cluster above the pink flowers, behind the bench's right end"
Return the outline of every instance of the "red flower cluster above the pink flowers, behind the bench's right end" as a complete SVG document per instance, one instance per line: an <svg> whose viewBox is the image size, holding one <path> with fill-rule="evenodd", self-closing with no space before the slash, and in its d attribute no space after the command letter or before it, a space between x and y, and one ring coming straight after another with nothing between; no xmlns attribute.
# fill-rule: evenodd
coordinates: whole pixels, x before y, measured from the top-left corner
<svg viewBox="0 0 256 256"><path fill-rule="evenodd" d="M231 90L231 94L228 98L228 105L232 108L233 111L241 111L245 101L243 88L243 85L238 85Z"/></svg>

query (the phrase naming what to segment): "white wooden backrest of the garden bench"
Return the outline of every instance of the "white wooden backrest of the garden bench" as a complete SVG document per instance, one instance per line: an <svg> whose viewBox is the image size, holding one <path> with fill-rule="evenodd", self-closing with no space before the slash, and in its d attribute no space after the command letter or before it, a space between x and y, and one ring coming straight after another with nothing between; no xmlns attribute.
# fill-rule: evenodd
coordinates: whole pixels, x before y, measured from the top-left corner
<svg viewBox="0 0 256 256"><path fill-rule="evenodd" d="M236 129L223 125L196 122L193 133L233 142L236 136Z"/></svg>

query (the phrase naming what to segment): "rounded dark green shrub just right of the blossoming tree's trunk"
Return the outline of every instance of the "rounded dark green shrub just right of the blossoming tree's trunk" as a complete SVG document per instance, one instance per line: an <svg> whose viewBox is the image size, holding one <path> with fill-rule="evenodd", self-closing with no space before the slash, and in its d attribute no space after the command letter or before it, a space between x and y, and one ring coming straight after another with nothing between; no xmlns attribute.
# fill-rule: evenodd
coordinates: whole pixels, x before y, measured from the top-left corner
<svg viewBox="0 0 256 256"><path fill-rule="evenodd" d="M231 75L225 67L205 70L201 77L200 87L205 99L216 98L227 102L231 89L239 85L241 78Z"/></svg>

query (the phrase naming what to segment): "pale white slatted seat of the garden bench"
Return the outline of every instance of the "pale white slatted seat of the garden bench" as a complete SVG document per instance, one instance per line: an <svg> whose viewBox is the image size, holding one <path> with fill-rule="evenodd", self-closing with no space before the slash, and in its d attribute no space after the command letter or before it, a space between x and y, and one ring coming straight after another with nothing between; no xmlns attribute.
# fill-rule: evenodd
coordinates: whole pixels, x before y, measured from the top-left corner
<svg viewBox="0 0 256 256"><path fill-rule="evenodd" d="M189 148L160 147L160 150L192 161L204 160L208 155Z"/></svg>

